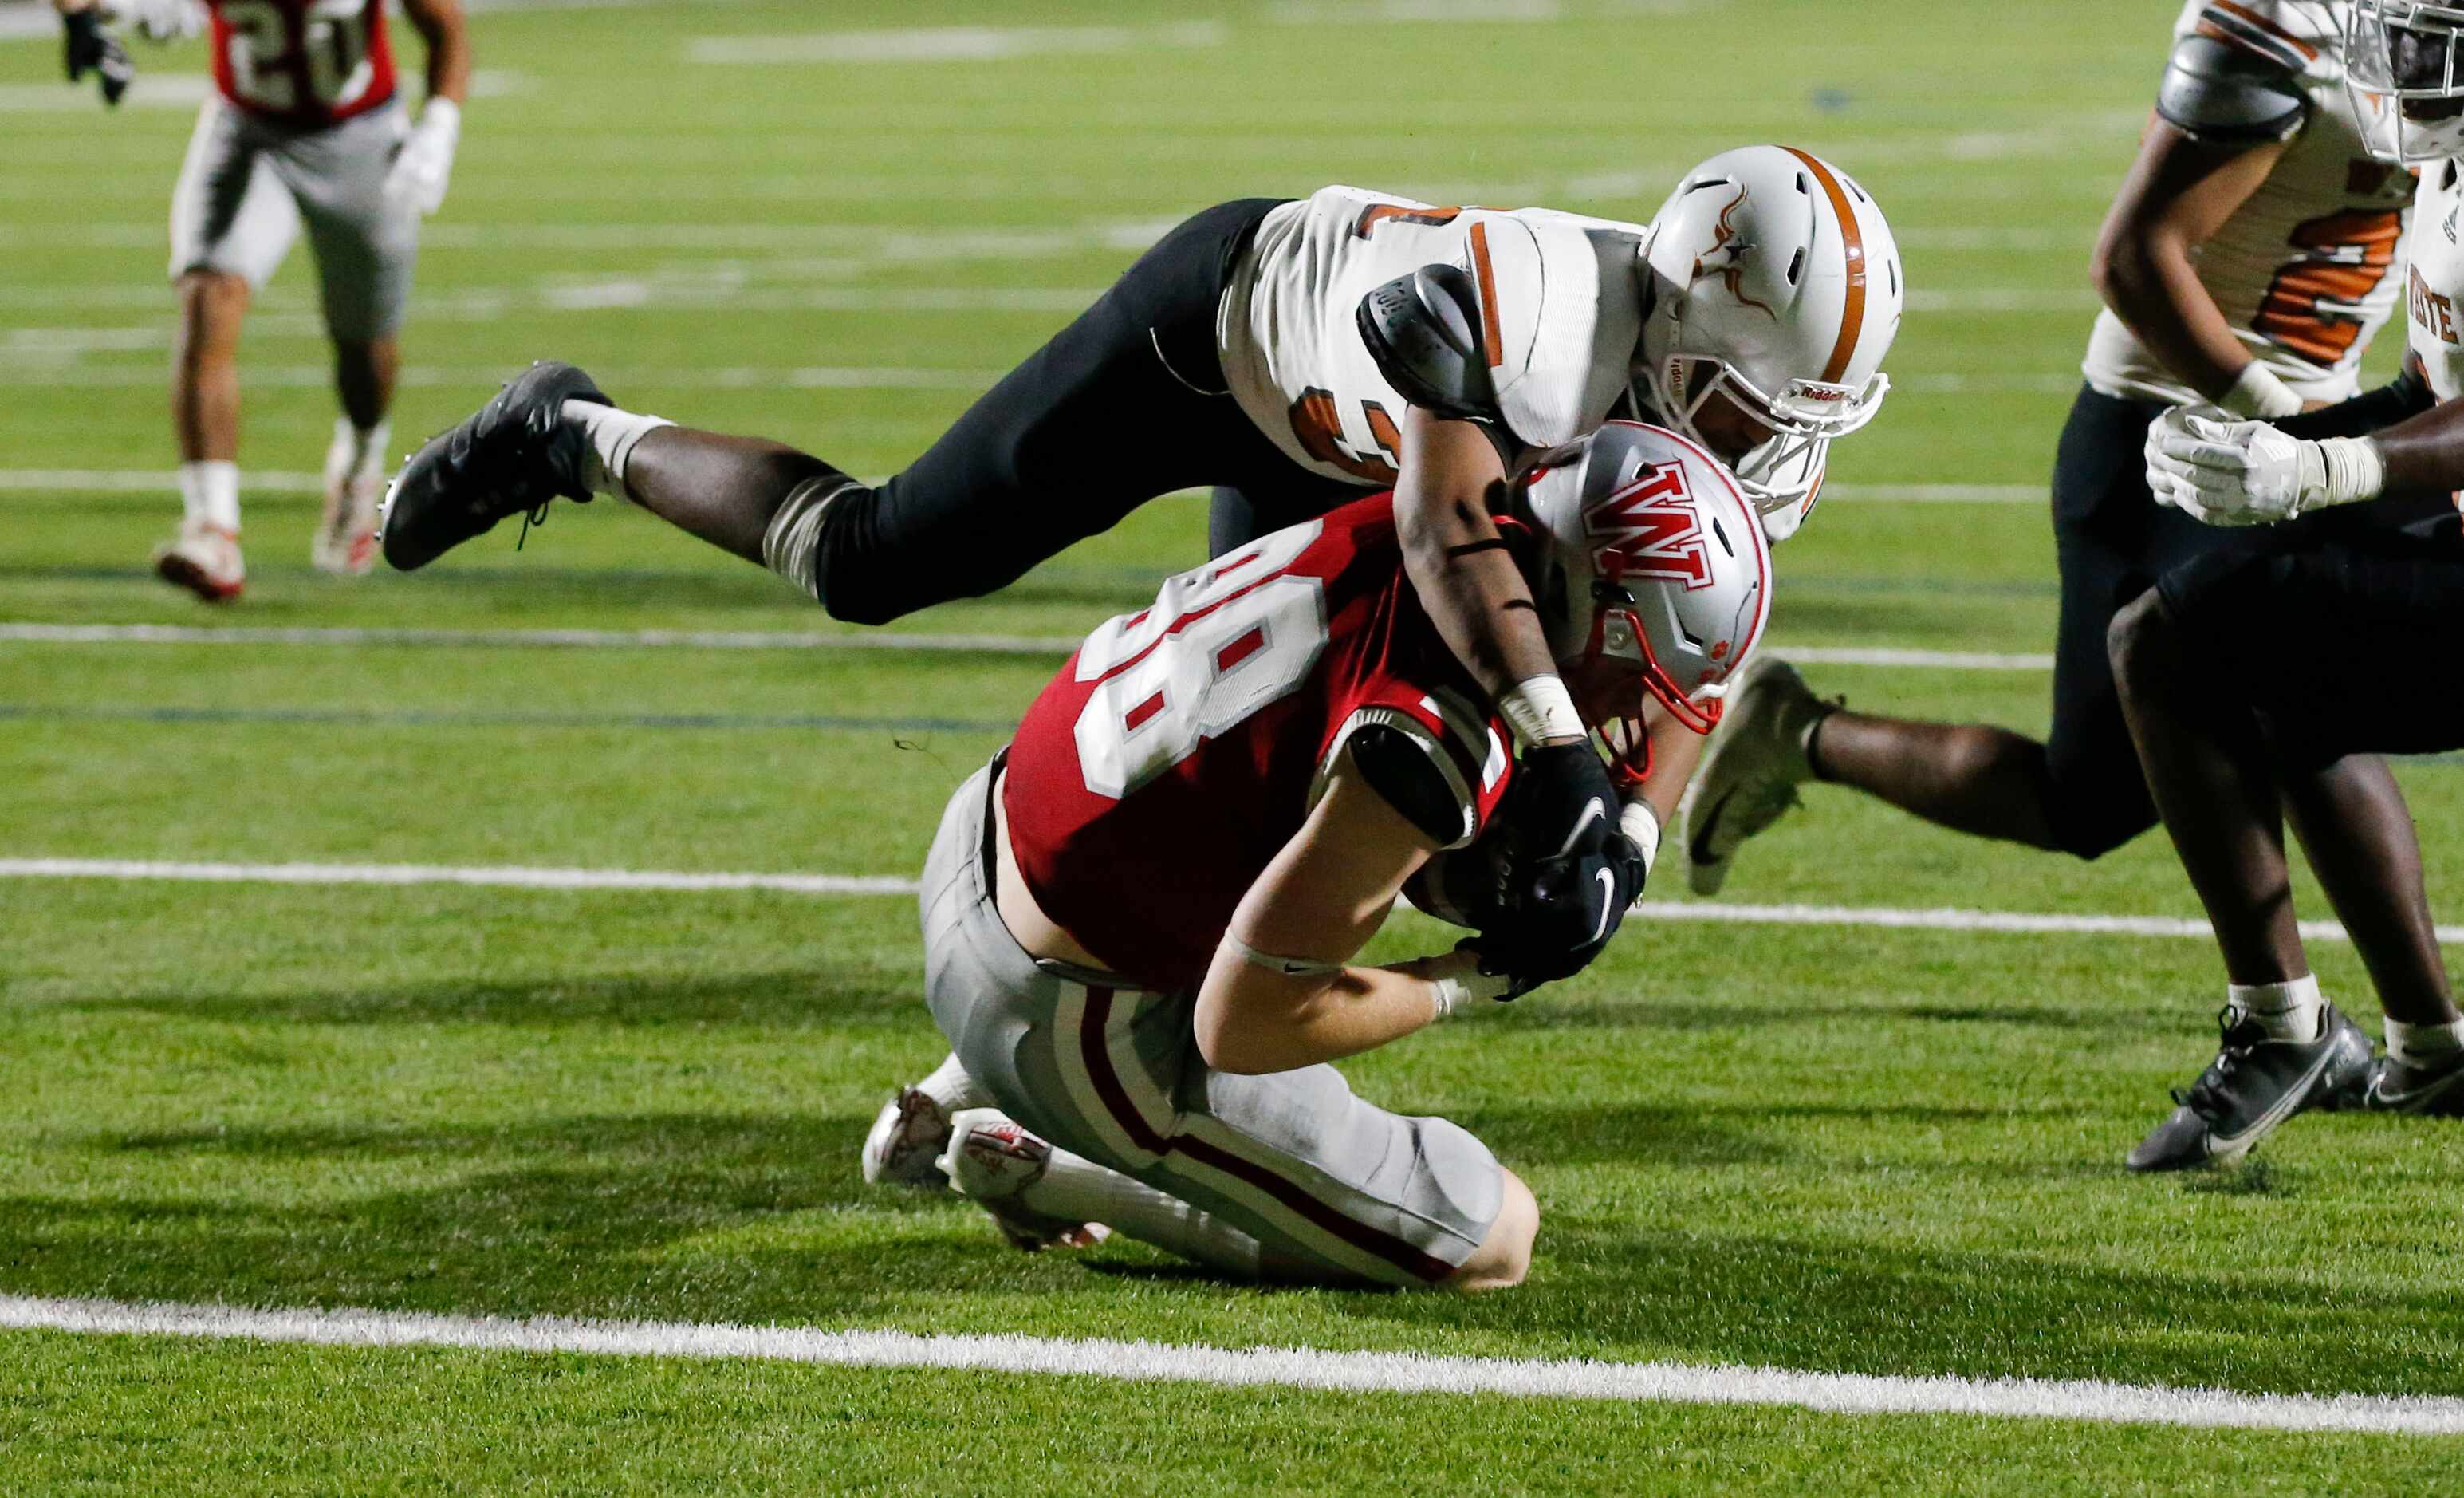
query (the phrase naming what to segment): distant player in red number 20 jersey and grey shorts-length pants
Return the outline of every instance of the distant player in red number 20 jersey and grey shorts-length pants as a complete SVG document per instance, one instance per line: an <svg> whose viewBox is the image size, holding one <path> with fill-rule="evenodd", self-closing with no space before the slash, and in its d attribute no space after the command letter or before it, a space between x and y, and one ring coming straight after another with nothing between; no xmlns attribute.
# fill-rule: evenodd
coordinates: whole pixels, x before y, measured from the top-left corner
<svg viewBox="0 0 2464 1498"><path fill-rule="evenodd" d="M71 79L81 62L108 62L96 17L128 20L155 39L205 27L214 49L217 96L197 116L170 207L182 515L180 532L155 549L155 569L209 601L237 599L246 584L239 328L306 227L342 399L310 559L338 577L367 572L419 219L444 202L471 86L461 0L402 0L429 49L416 126L394 89L387 0L54 2L69 25ZM126 86L126 57L116 67ZM118 99L111 71L103 91Z"/></svg>

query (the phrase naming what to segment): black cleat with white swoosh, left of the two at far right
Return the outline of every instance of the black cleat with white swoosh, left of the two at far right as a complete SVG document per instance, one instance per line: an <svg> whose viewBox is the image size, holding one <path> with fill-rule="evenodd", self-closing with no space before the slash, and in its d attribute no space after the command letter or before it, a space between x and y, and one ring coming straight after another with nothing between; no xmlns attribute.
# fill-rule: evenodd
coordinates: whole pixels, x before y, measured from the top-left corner
<svg viewBox="0 0 2464 1498"><path fill-rule="evenodd" d="M2277 1040L2230 1005L2218 1025L2215 1059L2190 1091L2173 1094L2173 1116L2129 1153L2131 1170L2232 1165L2277 1124L2333 1106L2370 1067L2370 1037L2336 1005L2326 1005L2319 1040Z"/></svg>

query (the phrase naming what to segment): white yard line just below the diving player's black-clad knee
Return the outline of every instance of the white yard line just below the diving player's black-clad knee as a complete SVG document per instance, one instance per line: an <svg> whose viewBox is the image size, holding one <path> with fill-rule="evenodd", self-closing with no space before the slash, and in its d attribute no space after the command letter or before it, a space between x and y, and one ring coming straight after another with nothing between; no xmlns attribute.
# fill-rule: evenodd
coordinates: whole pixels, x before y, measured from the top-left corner
<svg viewBox="0 0 2464 1498"><path fill-rule="evenodd" d="M153 485L160 488L160 485ZM1067 655L1067 636L924 636L899 631L692 631L692 628L352 628L202 623L0 623L0 643L27 646L466 646L513 650L949 650L963 655ZM2053 670L2053 655L1900 650L1890 646L1772 646L1806 665L1905 670Z"/></svg>

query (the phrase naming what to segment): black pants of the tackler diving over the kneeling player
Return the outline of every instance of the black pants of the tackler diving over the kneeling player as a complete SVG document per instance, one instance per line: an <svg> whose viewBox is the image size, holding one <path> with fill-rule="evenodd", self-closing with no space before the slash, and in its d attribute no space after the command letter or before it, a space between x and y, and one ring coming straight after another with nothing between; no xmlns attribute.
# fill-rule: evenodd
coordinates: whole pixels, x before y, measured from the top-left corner
<svg viewBox="0 0 2464 1498"><path fill-rule="evenodd" d="M1271 207L1183 222L904 473L835 498L816 554L830 616L887 623L991 594L1180 488L1232 490L1234 517L1210 527L1230 545L1368 493L1286 458L1227 389L1215 318Z"/></svg>

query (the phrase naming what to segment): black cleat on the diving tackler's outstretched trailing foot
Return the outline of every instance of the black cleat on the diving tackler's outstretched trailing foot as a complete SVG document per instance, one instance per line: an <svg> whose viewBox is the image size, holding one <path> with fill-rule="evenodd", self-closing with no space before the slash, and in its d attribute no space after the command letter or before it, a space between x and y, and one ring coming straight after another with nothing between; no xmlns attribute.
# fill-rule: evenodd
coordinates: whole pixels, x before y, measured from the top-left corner
<svg viewBox="0 0 2464 1498"><path fill-rule="evenodd" d="M411 453L377 515L387 567L426 567L508 515L537 525L559 495L586 505L591 448L564 419L564 402L616 404L582 370L542 360Z"/></svg>

